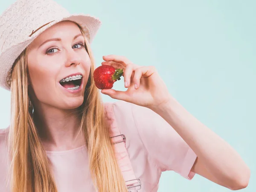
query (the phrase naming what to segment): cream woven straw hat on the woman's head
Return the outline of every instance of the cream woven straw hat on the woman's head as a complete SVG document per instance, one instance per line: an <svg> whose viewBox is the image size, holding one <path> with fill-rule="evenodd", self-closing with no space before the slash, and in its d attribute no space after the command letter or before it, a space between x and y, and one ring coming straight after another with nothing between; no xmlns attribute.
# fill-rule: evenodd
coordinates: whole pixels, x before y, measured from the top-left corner
<svg viewBox="0 0 256 192"><path fill-rule="evenodd" d="M90 15L71 15L53 0L17 0L0 16L0 87L10 90L16 58L44 30L70 20L81 26L91 43L101 25Z"/></svg>

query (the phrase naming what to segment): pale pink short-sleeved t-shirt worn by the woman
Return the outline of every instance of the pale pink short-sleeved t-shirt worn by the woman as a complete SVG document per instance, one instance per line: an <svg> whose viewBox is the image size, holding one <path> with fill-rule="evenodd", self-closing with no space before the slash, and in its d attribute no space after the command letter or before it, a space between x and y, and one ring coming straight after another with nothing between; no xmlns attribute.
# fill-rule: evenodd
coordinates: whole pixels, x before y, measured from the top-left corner
<svg viewBox="0 0 256 192"><path fill-rule="evenodd" d="M114 119L126 137L126 148L134 174L141 181L138 192L157 192L163 171L175 171L191 180L196 154L177 132L148 108L118 101L112 105ZM0 129L0 191L6 188L6 129ZM46 151L58 192L95 192L84 146L69 151ZM131 192L134 192L131 189Z"/></svg>

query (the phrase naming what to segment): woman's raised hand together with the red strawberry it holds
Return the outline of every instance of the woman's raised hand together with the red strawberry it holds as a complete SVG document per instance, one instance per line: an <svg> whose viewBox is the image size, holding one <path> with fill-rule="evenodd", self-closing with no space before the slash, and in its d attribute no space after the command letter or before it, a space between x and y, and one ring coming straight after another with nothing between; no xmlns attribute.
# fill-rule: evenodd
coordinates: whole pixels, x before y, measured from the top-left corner
<svg viewBox="0 0 256 192"><path fill-rule="evenodd" d="M127 58L118 55L103 56L103 59L102 66L98 67L100 70L97 68L94 71L94 78L95 76L102 76L101 83L105 82L106 87L101 91L103 94L111 96L113 99L123 100L151 109L157 108L159 105L165 105L170 100L171 96L166 84L160 78L155 67L138 66ZM117 72L113 69L117 69ZM120 79L122 72L124 73L122 75L124 76L125 87L128 89L126 91L111 89L113 87L112 82ZM120 76L113 76L116 73ZM104 74L107 74L107 76ZM112 85L107 82L111 82ZM100 82L96 80L95 84L100 84Z"/></svg>

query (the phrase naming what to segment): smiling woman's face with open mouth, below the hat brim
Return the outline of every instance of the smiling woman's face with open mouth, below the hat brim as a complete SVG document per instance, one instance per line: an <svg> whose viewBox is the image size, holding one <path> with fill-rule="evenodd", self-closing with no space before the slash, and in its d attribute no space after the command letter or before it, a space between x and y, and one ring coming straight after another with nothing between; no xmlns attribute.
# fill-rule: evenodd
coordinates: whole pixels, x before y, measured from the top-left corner
<svg viewBox="0 0 256 192"><path fill-rule="evenodd" d="M75 23L62 21L49 27L28 48L34 105L78 108L84 101L90 67L84 37Z"/></svg>

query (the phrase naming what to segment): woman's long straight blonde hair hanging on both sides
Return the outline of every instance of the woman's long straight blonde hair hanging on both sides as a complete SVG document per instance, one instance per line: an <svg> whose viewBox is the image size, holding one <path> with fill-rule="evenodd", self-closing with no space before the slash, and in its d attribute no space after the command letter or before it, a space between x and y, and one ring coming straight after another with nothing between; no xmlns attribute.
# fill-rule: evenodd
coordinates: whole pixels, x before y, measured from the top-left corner
<svg viewBox="0 0 256 192"><path fill-rule="evenodd" d="M79 26L82 34L83 30ZM125 180L117 164L109 129L105 124L104 106L93 81L94 61L84 93L79 132L84 134L89 155L90 173L98 192L127 192ZM57 192L47 154L32 119L32 103L28 92L27 49L16 59L11 81L11 124L9 155L12 192ZM75 166L75 165L74 165ZM86 165L84 165L86 166ZM86 189L84 189L84 192Z"/></svg>

